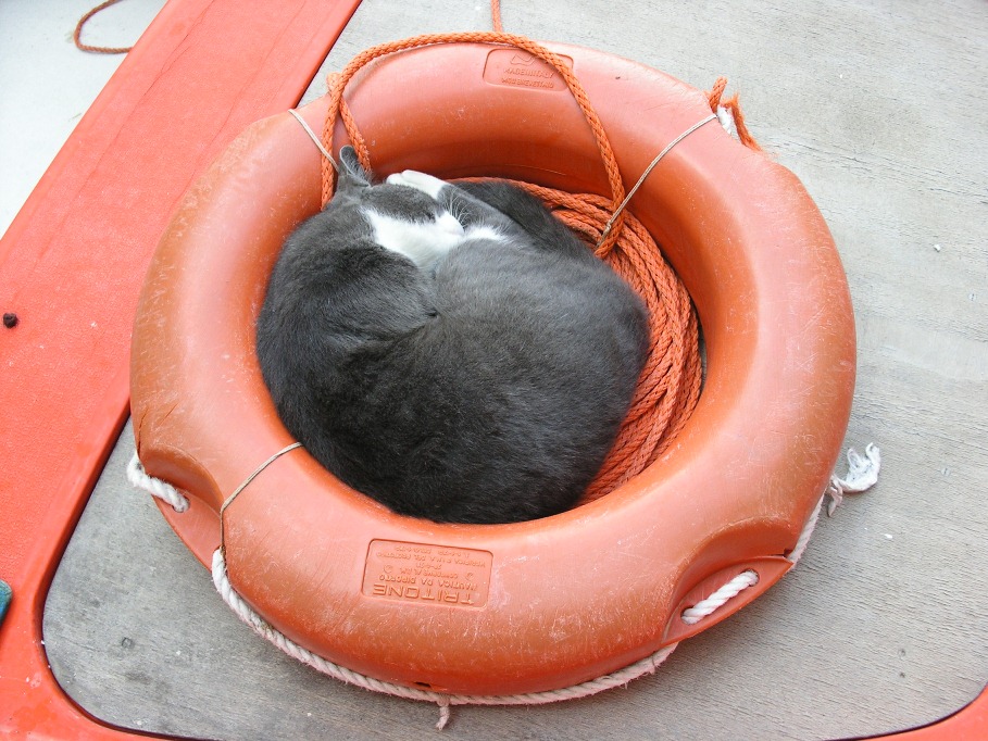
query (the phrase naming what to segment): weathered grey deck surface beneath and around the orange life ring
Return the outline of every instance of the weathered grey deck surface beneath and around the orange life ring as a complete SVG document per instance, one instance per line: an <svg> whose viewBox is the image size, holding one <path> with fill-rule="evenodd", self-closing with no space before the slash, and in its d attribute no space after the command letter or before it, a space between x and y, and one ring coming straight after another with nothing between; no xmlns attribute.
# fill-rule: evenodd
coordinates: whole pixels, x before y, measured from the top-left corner
<svg viewBox="0 0 988 741"><path fill-rule="evenodd" d="M877 442L884 470L823 519L792 574L654 676L581 701L454 708L446 737L828 739L929 723L972 700L988 681L988 4L506 0L503 12L510 32L700 88L725 74L741 91L753 134L803 180L841 252L859 332L847 442ZM77 13L59 13L71 30ZM8 36L42 23L22 15L0 5L3 86L21 68ZM486 28L479 0L364 0L325 70L382 40ZM37 54L57 46L64 59L63 45L59 30ZM60 74L36 84L57 90ZM17 197L2 193L12 215ZM438 734L435 706L323 678L242 626L127 487L132 452L128 428L48 599L46 646L71 696L111 723L179 736Z"/></svg>

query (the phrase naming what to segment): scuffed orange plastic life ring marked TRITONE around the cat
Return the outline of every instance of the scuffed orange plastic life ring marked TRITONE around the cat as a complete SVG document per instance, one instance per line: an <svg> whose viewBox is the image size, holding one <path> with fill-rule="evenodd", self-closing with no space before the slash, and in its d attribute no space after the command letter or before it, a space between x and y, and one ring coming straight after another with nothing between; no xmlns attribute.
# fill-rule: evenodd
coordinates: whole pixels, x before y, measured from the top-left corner
<svg viewBox="0 0 988 741"><path fill-rule="evenodd" d="M634 183L709 115L703 93L600 52L572 61ZM524 56L524 55L522 55ZM513 49L450 45L365 68L349 108L377 172L501 176L606 192L558 75ZM302 109L320 129L325 103ZM347 139L341 127L337 146ZM320 154L287 113L243 133L167 228L133 339L145 469L187 493L163 507L203 563L225 499L292 439L254 356L254 321L285 236L320 205ZM854 325L824 221L789 171L720 126L679 143L630 205L692 296L708 348L699 404L663 457L611 494L529 523L392 514L303 450L222 515L230 581L275 628L355 671L464 694L534 692L626 666L777 580L846 430ZM759 583L689 626L685 605L746 569Z"/></svg>

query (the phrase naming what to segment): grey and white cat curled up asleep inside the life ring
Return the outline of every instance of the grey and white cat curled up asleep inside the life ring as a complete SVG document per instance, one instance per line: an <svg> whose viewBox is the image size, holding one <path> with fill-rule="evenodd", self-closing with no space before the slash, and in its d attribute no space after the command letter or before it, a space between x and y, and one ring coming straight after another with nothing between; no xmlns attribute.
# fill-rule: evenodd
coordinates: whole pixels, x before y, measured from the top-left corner
<svg viewBox="0 0 988 741"><path fill-rule="evenodd" d="M288 430L395 512L508 523L571 507L645 361L640 299L534 197L405 171L338 190L285 242L258 356Z"/></svg>

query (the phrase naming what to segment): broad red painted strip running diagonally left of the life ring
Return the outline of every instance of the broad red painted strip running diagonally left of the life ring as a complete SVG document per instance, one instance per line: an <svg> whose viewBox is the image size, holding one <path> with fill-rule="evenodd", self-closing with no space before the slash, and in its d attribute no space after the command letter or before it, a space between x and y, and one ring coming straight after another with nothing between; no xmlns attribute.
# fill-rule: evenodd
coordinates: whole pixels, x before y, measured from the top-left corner
<svg viewBox="0 0 988 741"><path fill-rule="evenodd" d="M0 241L0 736L123 739L51 675L52 575L128 413L130 330L178 198L295 105L360 0L171 0Z"/></svg>

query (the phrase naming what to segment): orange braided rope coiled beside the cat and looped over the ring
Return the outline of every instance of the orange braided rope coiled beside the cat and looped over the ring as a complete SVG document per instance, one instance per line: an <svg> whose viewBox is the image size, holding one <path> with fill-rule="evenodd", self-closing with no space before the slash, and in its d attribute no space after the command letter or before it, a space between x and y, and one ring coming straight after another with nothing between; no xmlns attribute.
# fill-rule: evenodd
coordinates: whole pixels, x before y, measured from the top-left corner
<svg viewBox="0 0 988 741"><path fill-rule="evenodd" d="M579 80L550 50L526 37L501 32L498 0L492 0L492 13L497 32L434 34L384 43L363 51L341 73L330 75L323 145L333 151L333 129L339 117L361 164L372 169L370 151L343 100L343 91L361 67L386 54L438 43L512 46L550 64L565 79L597 140L608 173L611 198L568 193L528 183L515 185L541 199L599 258L628 281L648 306L651 328L650 350L631 407L614 447L580 502L586 503L606 494L656 461L692 414L700 395L702 375L697 314L685 287L663 259L651 235L631 213L618 210L625 188L614 151ZM724 85L726 80L718 79L709 93L713 112L722 104ZM733 105L730 110L738 133L743 130L748 138L745 143L758 148L743 126L737 98L728 101L727 105ZM323 161L322 175L325 204L332 198L335 186L335 172L327 160ZM610 229L605 228L609 219L613 221Z"/></svg>

